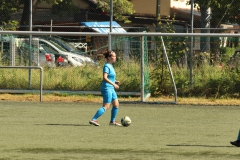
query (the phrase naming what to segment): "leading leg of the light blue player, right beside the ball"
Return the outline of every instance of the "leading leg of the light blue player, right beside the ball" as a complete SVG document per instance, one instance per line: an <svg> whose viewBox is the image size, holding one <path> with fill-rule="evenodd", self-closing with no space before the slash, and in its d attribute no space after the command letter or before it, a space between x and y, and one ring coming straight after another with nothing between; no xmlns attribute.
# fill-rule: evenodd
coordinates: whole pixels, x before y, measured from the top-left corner
<svg viewBox="0 0 240 160"><path fill-rule="evenodd" d="M116 116L118 114L118 108L119 108L119 101L117 98L117 94L115 92L115 90L113 90L112 92L112 97L113 97L113 101L112 101L112 110L111 110L111 119L110 119L110 125L115 125L115 126L121 126L121 124L117 123L116 121Z"/></svg>

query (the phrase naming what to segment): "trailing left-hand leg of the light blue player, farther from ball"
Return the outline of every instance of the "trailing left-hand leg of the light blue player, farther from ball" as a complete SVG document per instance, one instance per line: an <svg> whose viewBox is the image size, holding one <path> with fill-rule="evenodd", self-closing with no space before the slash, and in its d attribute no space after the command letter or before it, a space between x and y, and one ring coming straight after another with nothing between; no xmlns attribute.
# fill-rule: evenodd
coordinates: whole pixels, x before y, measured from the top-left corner
<svg viewBox="0 0 240 160"><path fill-rule="evenodd" d="M103 96L103 106L97 110L92 120L89 121L90 124L95 126L100 126L97 119L101 117L106 110L110 107L112 95L107 91L102 91Z"/></svg>

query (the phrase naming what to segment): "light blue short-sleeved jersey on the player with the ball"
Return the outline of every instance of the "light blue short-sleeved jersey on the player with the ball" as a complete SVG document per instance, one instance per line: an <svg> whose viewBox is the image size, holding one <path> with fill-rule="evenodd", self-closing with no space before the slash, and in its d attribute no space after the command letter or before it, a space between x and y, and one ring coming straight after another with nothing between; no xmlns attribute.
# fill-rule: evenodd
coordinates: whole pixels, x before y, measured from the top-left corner
<svg viewBox="0 0 240 160"><path fill-rule="evenodd" d="M115 83L115 81L116 81L116 73L115 73L115 70L114 70L112 64L105 63L104 66L103 66L103 73L107 73L108 74L107 78L111 82ZM108 82L103 80L102 81L101 90L108 90L108 89L114 89L114 87L110 83L108 83Z"/></svg>

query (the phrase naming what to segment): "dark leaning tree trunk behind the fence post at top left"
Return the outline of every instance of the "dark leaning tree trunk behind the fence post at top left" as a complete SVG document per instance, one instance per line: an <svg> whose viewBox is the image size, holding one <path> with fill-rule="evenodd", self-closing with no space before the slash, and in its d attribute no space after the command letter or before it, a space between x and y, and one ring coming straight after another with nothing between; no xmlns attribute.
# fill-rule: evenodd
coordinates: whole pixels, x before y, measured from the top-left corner
<svg viewBox="0 0 240 160"><path fill-rule="evenodd" d="M38 5L38 0L32 0L32 17L34 17L34 13L36 12ZM24 2L24 8L23 8L23 14L20 22L20 31L29 31L30 30L30 1L25 0Z"/></svg>

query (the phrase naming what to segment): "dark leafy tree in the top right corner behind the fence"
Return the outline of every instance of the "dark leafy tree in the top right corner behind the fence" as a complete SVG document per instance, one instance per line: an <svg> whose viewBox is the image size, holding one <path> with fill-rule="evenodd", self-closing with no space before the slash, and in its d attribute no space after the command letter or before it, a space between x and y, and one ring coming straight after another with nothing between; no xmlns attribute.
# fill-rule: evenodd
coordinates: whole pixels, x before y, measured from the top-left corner
<svg viewBox="0 0 240 160"><path fill-rule="evenodd" d="M230 23L240 23L240 3L238 0L194 0L195 7L198 4L198 9L201 12L201 28L206 28L207 21L211 21L211 28L218 28L220 24L225 22ZM188 4L191 4L189 1ZM208 8L211 8L211 13L208 13ZM206 21L207 20L207 21ZM210 33L210 30L202 30L202 32ZM213 30L212 32L215 32ZM206 51L210 49L210 37L202 38L201 51ZM208 49L209 48L209 49ZM217 47L213 47L216 49ZM214 51L214 57L219 57L219 51ZM214 60L216 61L216 59Z"/></svg>

